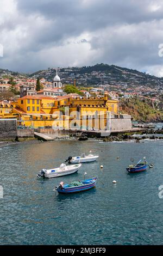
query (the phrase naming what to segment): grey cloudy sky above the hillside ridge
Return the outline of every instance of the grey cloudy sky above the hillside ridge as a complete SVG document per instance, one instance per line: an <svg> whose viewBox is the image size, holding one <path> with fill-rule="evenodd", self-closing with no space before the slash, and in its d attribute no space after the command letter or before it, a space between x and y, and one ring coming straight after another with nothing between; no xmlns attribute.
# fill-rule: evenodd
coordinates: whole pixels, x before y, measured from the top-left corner
<svg viewBox="0 0 163 256"><path fill-rule="evenodd" d="M0 0L0 68L107 63L163 76L162 0Z"/></svg>

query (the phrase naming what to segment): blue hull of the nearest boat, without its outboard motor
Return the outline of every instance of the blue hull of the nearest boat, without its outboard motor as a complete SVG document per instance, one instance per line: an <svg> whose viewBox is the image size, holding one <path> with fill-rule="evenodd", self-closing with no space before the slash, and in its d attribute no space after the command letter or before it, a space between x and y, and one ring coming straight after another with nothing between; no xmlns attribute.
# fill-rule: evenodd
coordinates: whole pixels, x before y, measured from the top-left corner
<svg viewBox="0 0 163 256"><path fill-rule="evenodd" d="M76 187L58 188L57 191L58 191L58 193L61 193L61 194L71 194L71 193L77 193L77 192L90 190L91 188L93 188L95 186L96 186L96 178L90 184L85 184L85 185L76 186Z"/></svg>

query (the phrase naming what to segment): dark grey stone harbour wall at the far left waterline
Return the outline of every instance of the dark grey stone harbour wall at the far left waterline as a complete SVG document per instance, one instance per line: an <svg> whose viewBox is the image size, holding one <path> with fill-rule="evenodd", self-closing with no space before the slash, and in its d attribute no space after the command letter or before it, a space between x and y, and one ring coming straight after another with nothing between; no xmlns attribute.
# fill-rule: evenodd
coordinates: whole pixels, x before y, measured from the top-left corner
<svg viewBox="0 0 163 256"><path fill-rule="evenodd" d="M0 140L15 139L17 136L16 119L0 119Z"/></svg>

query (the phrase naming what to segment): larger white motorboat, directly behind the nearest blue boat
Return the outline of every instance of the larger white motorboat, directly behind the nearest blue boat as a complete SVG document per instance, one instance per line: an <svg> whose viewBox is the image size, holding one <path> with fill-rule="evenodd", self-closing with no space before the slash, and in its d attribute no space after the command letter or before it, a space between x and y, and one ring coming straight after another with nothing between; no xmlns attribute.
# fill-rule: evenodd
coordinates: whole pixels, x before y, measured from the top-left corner
<svg viewBox="0 0 163 256"><path fill-rule="evenodd" d="M70 166L66 166L65 163L62 163L59 168L53 169L42 169L39 174L37 174L38 178L54 178L67 174L72 174L78 172L79 168L82 166L82 163L71 164Z"/></svg>

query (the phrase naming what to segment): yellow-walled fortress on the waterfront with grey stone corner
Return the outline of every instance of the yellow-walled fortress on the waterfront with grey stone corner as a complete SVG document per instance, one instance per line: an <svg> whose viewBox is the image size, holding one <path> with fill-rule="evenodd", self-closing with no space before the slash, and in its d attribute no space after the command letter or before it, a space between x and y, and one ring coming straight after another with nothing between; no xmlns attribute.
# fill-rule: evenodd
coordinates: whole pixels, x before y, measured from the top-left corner
<svg viewBox="0 0 163 256"><path fill-rule="evenodd" d="M58 97L36 94L23 96L8 105L0 105L0 118L16 117L18 126L34 129L70 129L73 120L76 129L82 127L87 130L91 119L92 129L100 130L106 126L108 114L112 119L112 130L131 128L128 126L129 122L118 127L118 120L130 119L130 116L119 114L118 100L110 100L108 95L87 98L77 94ZM95 119L99 118L103 119L101 127L95 124Z"/></svg>

